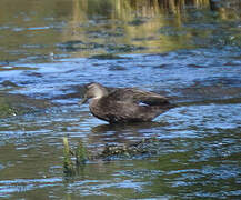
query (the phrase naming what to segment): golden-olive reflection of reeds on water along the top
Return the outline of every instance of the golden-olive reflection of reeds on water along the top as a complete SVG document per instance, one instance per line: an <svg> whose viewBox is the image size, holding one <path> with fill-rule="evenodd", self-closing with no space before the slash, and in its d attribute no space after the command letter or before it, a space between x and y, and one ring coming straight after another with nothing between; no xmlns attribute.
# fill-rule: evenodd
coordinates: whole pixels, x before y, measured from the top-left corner
<svg viewBox="0 0 241 200"><path fill-rule="evenodd" d="M51 60L99 53L165 52L207 47L210 42L237 43L240 3L215 7L209 0L129 1L54 0L2 1L0 60ZM16 4L16 7L12 7ZM48 4L46 7L46 4ZM202 9L202 12L197 9ZM217 10L217 12L211 12ZM225 32L215 27L220 18ZM202 26L199 26L202 23ZM230 29L232 33L230 38ZM234 29L234 30L233 30ZM27 58L27 59L26 59Z"/></svg>

